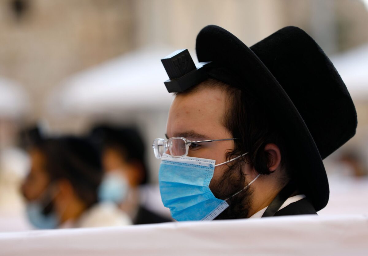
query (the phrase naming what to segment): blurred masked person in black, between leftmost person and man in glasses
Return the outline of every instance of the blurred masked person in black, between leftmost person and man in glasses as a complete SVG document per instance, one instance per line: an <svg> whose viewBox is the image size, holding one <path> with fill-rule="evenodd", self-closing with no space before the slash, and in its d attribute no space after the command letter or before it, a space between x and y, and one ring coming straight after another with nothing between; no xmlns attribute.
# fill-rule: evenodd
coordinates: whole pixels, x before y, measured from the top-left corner
<svg viewBox="0 0 368 256"><path fill-rule="evenodd" d="M97 125L90 138L100 148L104 176L99 199L115 202L128 213L134 224L171 221L149 210L140 202L140 186L148 183L145 146L136 128Z"/></svg>

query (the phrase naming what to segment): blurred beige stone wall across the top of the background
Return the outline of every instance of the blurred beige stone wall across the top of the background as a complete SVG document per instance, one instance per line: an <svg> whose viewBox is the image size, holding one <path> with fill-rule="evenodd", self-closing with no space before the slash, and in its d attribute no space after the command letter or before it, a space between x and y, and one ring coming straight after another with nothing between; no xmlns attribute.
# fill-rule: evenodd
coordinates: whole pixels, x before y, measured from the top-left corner
<svg viewBox="0 0 368 256"><path fill-rule="evenodd" d="M142 46L194 49L208 24L247 45L287 25L327 54L368 43L361 0L0 0L0 76L25 87L33 121L68 75Z"/></svg>

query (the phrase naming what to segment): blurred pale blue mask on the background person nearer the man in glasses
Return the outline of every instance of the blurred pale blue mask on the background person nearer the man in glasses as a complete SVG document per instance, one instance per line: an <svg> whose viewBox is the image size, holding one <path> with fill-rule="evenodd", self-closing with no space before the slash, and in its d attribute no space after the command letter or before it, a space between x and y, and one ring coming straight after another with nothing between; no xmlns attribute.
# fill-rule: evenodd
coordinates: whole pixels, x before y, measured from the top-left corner
<svg viewBox="0 0 368 256"><path fill-rule="evenodd" d="M103 202L121 203L128 196L128 181L119 171L105 174L98 189L98 198Z"/></svg>

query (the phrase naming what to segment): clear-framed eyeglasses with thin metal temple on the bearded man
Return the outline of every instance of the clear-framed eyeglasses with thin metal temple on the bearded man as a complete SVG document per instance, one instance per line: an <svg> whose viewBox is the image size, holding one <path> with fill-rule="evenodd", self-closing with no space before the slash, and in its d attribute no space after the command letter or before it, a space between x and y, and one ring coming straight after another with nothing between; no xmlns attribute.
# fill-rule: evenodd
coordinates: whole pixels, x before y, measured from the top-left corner
<svg viewBox="0 0 368 256"><path fill-rule="evenodd" d="M183 157L188 155L189 146L194 143L213 142L213 141L230 141L231 139L210 139L207 141L189 141L183 137L172 137L165 141L164 139L155 139L152 143L153 153L155 157L160 159L169 149L170 155L173 157Z"/></svg>

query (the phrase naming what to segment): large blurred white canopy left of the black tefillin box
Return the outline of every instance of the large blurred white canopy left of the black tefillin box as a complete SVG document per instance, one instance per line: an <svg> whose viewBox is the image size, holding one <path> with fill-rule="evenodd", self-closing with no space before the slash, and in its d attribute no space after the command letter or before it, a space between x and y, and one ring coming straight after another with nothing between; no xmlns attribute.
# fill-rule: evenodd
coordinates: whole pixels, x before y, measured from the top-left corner
<svg viewBox="0 0 368 256"><path fill-rule="evenodd" d="M53 113L104 114L168 109L172 96L160 61L173 49L141 49L67 78L49 98Z"/></svg>

